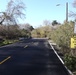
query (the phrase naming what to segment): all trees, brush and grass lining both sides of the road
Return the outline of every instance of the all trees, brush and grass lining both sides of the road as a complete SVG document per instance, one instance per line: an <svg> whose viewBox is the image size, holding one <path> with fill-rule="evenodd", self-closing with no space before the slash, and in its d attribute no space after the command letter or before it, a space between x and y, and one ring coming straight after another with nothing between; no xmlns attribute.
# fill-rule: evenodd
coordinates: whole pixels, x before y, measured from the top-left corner
<svg viewBox="0 0 76 75"><path fill-rule="evenodd" d="M70 40L75 35L75 21L60 24L56 20L52 23L45 20L42 26L34 29L29 23L18 24L19 18L25 18L22 12L24 10L25 5L22 2L10 0L6 11L0 12L0 46L14 43L20 37L48 38L57 44L59 52L63 54L65 65L72 72L76 72L76 49L70 48ZM76 14L71 13L70 16L76 17Z"/></svg>

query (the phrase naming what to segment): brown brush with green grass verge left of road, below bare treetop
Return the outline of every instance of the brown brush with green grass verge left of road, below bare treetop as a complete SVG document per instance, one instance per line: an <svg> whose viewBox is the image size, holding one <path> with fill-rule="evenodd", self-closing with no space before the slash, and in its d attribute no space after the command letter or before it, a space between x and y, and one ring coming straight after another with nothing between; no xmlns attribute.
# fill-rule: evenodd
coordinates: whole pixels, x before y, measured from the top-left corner
<svg viewBox="0 0 76 75"><path fill-rule="evenodd" d="M30 24L24 24L24 28L18 25L1 25L0 26L0 46L17 42L19 38L30 38L31 31L34 29ZM28 26L28 27L27 27Z"/></svg>

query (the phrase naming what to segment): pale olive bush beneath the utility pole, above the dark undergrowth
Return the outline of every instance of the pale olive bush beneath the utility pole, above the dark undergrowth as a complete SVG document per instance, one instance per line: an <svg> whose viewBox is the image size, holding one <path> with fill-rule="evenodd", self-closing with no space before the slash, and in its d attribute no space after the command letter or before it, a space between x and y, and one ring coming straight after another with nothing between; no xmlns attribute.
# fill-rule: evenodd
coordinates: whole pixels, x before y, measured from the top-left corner
<svg viewBox="0 0 76 75"><path fill-rule="evenodd" d="M70 49L70 39L74 35L74 23L69 22L61 25L51 32L51 39L54 40L63 50Z"/></svg>

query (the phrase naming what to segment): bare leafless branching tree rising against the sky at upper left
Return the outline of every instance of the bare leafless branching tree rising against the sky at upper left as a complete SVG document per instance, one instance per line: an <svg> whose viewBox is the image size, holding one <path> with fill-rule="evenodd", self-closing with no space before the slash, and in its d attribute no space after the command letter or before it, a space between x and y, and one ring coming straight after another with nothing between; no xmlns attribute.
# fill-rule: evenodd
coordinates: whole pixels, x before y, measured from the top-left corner
<svg viewBox="0 0 76 75"><path fill-rule="evenodd" d="M23 18L25 14L25 5L19 0L10 0L7 4L6 11L0 12L0 24L16 24L19 18Z"/></svg>

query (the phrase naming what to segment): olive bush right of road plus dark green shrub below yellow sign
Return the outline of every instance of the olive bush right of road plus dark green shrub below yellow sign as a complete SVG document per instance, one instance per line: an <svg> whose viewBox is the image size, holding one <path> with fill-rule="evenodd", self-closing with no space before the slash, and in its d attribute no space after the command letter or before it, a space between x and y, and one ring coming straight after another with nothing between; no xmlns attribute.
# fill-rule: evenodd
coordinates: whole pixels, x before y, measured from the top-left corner
<svg viewBox="0 0 76 75"><path fill-rule="evenodd" d="M59 26L51 32L51 39L61 47L60 51L65 55L65 65L71 70L76 71L76 57L71 54L70 39L74 35L74 22L70 21ZM67 54L67 55L66 55Z"/></svg>

